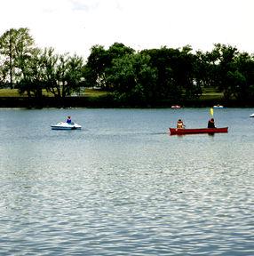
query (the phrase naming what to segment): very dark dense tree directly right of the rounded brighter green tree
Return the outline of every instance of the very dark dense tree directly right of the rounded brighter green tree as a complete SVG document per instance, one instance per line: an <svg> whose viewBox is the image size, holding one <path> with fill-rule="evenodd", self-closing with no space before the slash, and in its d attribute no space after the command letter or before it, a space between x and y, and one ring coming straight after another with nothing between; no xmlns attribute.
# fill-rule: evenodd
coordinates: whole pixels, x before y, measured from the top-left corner
<svg viewBox="0 0 254 256"><path fill-rule="evenodd" d="M194 84L195 56L190 46L181 50L162 47L144 50L151 57L151 66L157 68L156 92L161 100L180 101L198 96L201 92Z"/></svg>

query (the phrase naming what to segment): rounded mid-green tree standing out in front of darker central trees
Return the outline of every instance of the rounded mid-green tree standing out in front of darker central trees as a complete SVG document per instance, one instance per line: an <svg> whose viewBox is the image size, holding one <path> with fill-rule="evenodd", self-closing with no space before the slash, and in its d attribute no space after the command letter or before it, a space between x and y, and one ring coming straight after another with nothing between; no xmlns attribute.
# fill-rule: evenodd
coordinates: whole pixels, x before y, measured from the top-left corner
<svg viewBox="0 0 254 256"><path fill-rule="evenodd" d="M139 104L155 102L157 70L150 66L147 54L131 53L114 59L107 74L118 100Z"/></svg>

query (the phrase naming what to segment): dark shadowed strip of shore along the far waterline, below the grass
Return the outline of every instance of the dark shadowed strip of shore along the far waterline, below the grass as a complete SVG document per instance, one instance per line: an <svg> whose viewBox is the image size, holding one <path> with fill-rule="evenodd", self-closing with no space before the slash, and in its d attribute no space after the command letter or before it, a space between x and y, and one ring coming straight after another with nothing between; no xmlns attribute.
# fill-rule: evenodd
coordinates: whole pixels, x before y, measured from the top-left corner
<svg viewBox="0 0 254 256"><path fill-rule="evenodd" d="M0 97L0 108L171 108L172 105L186 108L210 108L220 104L226 108L254 108L254 102L241 100L185 100L184 102L171 102L161 100L153 103L119 102L110 96L103 97L67 97L57 99L54 97L28 98L28 97Z"/></svg>

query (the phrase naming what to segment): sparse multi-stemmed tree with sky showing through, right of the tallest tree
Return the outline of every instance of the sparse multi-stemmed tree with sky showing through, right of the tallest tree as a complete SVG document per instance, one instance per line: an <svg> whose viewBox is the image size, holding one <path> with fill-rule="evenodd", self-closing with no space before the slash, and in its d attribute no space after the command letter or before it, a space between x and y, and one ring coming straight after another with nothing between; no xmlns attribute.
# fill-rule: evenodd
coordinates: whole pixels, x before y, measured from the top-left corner
<svg viewBox="0 0 254 256"><path fill-rule="evenodd" d="M83 85L83 59L76 55L55 54L52 48L37 49L24 65L23 77L18 83L20 93L41 97L42 91L57 98L80 92Z"/></svg>

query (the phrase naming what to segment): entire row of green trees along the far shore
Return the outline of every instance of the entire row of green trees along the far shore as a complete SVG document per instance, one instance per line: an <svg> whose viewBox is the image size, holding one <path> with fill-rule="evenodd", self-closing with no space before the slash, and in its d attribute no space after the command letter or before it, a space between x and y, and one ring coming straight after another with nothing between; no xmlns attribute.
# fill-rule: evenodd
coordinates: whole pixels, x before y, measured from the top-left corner
<svg viewBox="0 0 254 256"><path fill-rule="evenodd" d="M231 45L214 44L210 52L182 48L135 51L121 43L108 49L93 45L87 60L76 54L40 49L28 28L11 28L0 36L0 87L28 97L56 98L87 87L110 92L115 100L153 103L198 99L204 89L225 100L254 99L254 56Z"/></svg>

